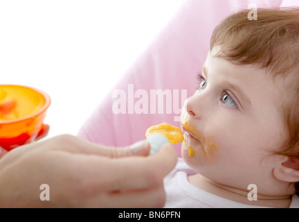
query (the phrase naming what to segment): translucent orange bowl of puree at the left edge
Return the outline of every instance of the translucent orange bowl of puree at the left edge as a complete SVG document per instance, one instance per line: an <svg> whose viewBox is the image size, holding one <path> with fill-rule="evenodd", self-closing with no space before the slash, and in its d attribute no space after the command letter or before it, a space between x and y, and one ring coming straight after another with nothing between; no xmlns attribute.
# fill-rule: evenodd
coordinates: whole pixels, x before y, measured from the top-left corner
<svg viewBox="0 0 299 222"><path fill-rule="evenodd" d="M33 142L44 131L48 94L21 85L0 85L0 146L12 148Z"/></svg>

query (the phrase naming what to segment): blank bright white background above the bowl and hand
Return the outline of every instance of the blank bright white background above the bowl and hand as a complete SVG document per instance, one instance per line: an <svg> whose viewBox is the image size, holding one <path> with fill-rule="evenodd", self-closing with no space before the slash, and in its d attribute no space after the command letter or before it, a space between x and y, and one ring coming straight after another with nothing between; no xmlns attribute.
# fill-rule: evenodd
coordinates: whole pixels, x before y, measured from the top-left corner
<svg viewBox="0 0 299 222"><path fill-rule="evenodd" d="M0 84L48 93L48 137L76 135L183 1L0 0Z"/></svg>

